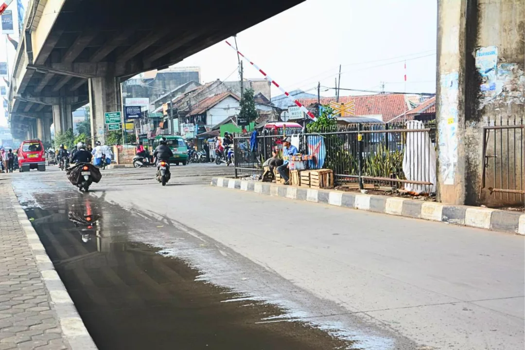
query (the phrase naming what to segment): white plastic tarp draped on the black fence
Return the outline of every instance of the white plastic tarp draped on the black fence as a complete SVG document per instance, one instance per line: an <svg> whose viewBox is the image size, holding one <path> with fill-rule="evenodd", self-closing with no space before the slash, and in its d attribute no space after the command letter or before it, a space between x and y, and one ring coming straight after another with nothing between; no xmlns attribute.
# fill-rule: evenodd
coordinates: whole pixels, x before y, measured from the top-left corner
<svg viewBox="0 0 525 350"><path fill-rule="evenodd" d="M420 121L411 120L406 122L406 128L425 129L425 125ZM407 183L405 189L408 192L436 192L436 151L427 131L406 133L403 173L407 180L432 183L430 186Z"/></svg>

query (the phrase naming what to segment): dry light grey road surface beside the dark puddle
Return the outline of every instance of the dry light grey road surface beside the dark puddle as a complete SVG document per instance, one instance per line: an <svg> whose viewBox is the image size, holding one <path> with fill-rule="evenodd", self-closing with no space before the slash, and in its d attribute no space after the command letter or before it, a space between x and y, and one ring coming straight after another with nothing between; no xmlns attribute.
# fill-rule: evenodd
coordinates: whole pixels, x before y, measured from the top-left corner
<svg viewBox="0 0 525 350"><path fill-rule="evenodd" d="M224 165L173 167L166 187L153 172L106 171L92 187L89 197L112 208L106 236L123 239L113 226L125 216L150 222L125 240L280 305L277 320L308 320L366 349L524 347L521 236L210 187L233 172ZM27 207L75 191L55 169L12 177Z"/></svg>

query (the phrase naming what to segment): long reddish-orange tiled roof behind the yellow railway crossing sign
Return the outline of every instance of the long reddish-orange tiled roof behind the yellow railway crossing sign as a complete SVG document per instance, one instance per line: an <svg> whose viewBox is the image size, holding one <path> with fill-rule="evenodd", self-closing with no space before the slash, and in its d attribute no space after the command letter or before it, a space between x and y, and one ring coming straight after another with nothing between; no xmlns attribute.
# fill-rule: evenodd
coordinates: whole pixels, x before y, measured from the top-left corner
<svg viewBox="0 0 525 350"><path fill-rule="evenodd" d="M321 99L321 104L329 104L335 101L334 97L325 97ZM377 95L365 95L365 96L341 96L339 97L339 103L354 102L355 115L366 116L366 115L378 115L383 116L383 122L387 122L396 116L408 111L404 94L377 94ZM317 98L314 99L300 99L305 107L312 103L317 103Z"/></svg>

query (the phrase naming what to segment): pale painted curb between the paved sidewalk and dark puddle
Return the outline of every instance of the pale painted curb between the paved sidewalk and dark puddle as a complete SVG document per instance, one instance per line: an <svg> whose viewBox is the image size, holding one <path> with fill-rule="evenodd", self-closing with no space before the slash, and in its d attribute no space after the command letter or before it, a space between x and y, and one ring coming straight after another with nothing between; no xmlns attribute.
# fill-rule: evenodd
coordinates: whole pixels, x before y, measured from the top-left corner
<svg viewBox="0 0 525 350"><path fill-rule="evenodd" d="M18 221L33 251L38 271L42 276L44 285L51 298L51 307L53 307L57 314L64 338L69 343L71 350L97 350L95 342L93 342L93 339L89 335L86 326L77 312L75 304L71 300L66 287L64 287L64 283L60 280L53 266L53 262L49 259L24 209L16 200L14 200L14 204Z"/></svg>

